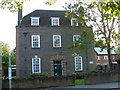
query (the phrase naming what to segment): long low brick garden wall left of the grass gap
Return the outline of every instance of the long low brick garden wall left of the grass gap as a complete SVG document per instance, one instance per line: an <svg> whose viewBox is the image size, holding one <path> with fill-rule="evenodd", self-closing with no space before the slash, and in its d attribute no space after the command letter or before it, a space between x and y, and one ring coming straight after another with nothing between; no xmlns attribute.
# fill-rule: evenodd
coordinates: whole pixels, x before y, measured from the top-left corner
<svg viewBox="0 0 120 90"><path fill-rule="evenodd" d="M46 88L75 85L75 76L37 77L13 79L12 88ZM8 80L3 80L3 88L8 88Z"/></svg>

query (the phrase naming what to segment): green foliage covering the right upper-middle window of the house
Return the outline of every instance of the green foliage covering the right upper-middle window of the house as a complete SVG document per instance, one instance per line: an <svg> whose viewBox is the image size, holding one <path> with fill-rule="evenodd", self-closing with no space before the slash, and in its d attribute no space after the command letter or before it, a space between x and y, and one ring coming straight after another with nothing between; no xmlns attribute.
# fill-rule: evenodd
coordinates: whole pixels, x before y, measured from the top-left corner
<svg viewBox="0 0 120 90"><path fill-rule="evenodd" d="M91 29L91 27L81 26L80 39L74 41L68 46L68 49L77 49L76 52L73 53L73 56L77 55L77 53L81 52L82 50L89 49L90 46L94 45L94 35Z"/></svg>

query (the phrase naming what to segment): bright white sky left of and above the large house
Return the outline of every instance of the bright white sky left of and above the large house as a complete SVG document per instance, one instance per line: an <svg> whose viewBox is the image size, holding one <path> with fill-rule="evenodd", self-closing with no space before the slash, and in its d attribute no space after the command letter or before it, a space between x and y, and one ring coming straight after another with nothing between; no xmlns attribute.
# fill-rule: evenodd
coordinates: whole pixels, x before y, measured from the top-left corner
<svg viewBox="0 0 120 90"><path fill-rule="evenodd" d="M1 1L1 0L0 0ZM47 0L31 0L23 4L23 16L31 13L36 9L42 10L64 10L62 6L65 2L70 0L58 0L52 6L45 5ZM11 49L16 47L16 25L17 25L17 12L10 12L7 9L0 8L0 41L8 43Z"/></svg>

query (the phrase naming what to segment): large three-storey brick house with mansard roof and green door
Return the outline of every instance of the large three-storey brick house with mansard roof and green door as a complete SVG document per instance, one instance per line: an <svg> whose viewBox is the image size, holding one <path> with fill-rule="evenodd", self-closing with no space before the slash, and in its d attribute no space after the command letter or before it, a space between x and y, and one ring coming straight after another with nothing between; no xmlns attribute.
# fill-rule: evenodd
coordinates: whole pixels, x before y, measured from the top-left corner
<svg viewBox="0 0 120 90"><path fill-rule="evenodd" d="M27 78L33 73L50 76L72 75L95 69L94 45L77 56L68 47L79 40L82 30L76 19L65 18L66 11L35 10L22 18L18 14L16 26L16 75ZM74 25L74 26L73 26ZM89 27L88 27L89 28ZM92 28L89 28L92 33Z"/></svg>

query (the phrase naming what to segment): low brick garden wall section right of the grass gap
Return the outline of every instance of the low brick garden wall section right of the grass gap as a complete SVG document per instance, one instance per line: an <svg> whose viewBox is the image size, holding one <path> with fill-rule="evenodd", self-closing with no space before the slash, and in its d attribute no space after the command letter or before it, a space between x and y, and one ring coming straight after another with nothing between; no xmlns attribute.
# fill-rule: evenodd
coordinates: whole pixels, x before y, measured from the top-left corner
<svg viewBox="0 0 120 90"><path fill-rule="evenodd" d="M91 73L85 75L85 84L120 82L120 71Z"/></svg>

